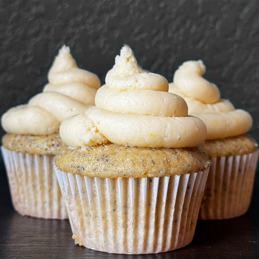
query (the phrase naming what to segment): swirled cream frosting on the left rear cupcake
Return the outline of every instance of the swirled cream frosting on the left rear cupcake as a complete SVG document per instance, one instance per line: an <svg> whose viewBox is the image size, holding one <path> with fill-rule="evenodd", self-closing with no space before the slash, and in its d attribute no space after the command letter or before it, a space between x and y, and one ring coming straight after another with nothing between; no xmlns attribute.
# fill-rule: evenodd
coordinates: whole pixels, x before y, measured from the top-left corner
<svg viewBox="0 0 259 259"><path fill-rule="evenodd" d="M66 46L55 57L48 80L43 92L36 94L28 104L13 107L3 114L1 124L6 132L56 133L61 121L94 105L95 94L100 87L98 76L79 69Z"/></svg>

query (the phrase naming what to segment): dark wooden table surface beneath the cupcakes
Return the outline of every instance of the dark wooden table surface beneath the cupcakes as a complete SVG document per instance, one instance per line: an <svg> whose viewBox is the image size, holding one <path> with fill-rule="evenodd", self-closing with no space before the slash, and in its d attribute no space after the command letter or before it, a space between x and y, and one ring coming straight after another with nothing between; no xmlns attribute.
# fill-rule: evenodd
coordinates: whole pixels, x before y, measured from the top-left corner
<svg viewBox="0 0 259 259"><path fill-rule="evenodd" d="M68 220L20 216L12 207L3 165L0 165L0 259L101 258L259 258L259 172L251 206L238 218L198 221L186 247L154 255L116 255L74 244Z"/></svg>

